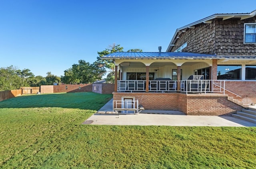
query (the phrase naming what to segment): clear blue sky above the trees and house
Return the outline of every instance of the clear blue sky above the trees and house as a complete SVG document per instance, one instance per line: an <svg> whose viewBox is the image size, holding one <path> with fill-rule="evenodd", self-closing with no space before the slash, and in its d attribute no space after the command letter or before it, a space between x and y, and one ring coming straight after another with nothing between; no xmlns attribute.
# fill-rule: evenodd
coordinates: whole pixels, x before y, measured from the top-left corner
<svg viewBox="0 0 256 169"><path fill-rule="evenodd" d="M0 67L61 76L113 43L166 51L177 28L253 10L256 0L0 0Z"/></svg>

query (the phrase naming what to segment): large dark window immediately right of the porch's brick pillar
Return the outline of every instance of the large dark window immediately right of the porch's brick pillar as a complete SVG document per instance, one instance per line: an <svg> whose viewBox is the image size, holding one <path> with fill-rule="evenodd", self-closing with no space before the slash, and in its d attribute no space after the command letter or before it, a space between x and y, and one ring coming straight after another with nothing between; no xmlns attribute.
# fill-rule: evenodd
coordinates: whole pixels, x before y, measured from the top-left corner
<svg viewBox="0 0 256 169"><path fill-rule="evenodd" d="M218 65L218 80L241 80L241 65Z"/></svg>

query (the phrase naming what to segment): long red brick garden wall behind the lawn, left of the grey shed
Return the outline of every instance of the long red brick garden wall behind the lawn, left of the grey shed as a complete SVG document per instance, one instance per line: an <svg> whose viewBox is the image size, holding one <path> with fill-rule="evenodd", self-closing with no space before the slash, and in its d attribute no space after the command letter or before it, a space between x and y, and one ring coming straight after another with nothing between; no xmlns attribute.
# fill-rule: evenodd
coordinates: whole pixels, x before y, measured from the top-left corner
<svg viewBox="0 0 256 169"><path fill-rule="evenodd" d="M68 87L66 89L66 86ZM79 89L80 86L80 89ZM92 92L92 84L80 84L80 85L56 85L53 86L53 92Z"/></svg>

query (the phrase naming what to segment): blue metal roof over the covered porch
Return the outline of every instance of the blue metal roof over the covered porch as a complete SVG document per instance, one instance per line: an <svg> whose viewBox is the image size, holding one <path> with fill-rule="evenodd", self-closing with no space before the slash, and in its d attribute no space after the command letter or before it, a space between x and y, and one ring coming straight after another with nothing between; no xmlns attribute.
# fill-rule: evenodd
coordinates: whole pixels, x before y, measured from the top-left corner
<svg viewBox="0 0 256 169"><path fill-rule="evenodd" d="M115 52L101 57L102 59L146 59L146 58L216 58L216 55L207 55L187 52ZM222 57L221 57L222 58ZM224 58L224 57L223 57Z"/></svg>

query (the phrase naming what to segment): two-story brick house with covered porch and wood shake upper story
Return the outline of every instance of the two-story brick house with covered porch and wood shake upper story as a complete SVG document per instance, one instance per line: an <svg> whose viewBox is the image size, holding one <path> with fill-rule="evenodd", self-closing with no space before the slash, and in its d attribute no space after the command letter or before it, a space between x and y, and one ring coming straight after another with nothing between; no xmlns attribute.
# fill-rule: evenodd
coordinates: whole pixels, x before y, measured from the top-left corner
<svg viewBox="0 0 256 169"><path fill-rule="evenodd" d="M114 100L148 110L226 115L256 103L256 10L178 28L166 52L116 52Z"/></svg>

